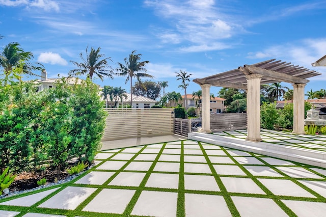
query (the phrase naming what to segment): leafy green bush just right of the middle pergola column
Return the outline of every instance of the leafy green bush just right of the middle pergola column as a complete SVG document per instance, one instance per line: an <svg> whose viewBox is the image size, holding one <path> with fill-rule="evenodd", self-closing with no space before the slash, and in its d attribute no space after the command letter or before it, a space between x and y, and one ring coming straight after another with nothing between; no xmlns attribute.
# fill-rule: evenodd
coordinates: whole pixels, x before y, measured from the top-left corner
<svg viewBox="0 0 326 217"><path fill-rule="evenodd" d="M277 123L279 112L276 109L276 103L263 102L260 106L260 122L264 129L274 129Z"/></svg>

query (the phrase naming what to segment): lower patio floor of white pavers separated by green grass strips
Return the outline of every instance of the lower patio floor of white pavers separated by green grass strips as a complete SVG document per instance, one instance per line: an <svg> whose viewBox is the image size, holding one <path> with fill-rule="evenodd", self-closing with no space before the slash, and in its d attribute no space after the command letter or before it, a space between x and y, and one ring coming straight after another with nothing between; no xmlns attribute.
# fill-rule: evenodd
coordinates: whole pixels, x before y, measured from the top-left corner
<svg viewBox="0 0 326 217"><path fill-rule="evenodd" d="M0 216L325 212L325 169L191 140L102 150L96 166L71 182L0 200Z"/></svg>

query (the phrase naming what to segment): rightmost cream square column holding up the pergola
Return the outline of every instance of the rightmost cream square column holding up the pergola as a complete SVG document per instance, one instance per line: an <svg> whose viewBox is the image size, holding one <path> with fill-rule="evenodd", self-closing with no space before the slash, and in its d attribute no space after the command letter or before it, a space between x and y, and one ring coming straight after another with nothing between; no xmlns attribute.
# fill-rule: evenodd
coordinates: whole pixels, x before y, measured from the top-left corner
<svg viewBox="0 0 326 217"><path fill-rule="evenodd" d="M305 134L305 86L293 86L293 131L294 134Z"/></svg>

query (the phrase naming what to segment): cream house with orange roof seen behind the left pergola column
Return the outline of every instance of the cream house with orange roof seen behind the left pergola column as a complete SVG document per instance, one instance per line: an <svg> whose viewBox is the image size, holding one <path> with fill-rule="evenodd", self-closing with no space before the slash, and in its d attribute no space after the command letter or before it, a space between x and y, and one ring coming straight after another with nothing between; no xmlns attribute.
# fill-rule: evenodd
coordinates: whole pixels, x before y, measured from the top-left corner
<svg viewBox="0 0 326 217"><path fill-rule="evenodd" d="M182 97L182 100L179 100L178 103L179 104L182 104L182 106L184 106L184 95L181 96ZM220 97L214 97L214 98L210 98L210 103L209 103L209 111L211 113L223 113L224 112L224 101L226 99L224 98L220 98ZM189 107L195 107L197 108L197 104L196 104L196 101L198 101L198 97L195 96L193 98L193 95L192 94L187 94L187 102L188 102L188 108ZM198 111L197 112L200 112L201 110L201 106L202 106L202 103L201 103L201 99L199 99L199 108L197 109Z"/></svg>

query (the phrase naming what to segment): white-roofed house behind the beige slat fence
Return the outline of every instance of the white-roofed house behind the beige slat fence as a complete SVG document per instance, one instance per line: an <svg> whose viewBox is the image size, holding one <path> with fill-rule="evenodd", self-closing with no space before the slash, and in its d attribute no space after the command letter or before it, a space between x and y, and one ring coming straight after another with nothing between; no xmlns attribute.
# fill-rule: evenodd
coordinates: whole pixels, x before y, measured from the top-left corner
<svg viewBox="0 0 326 217"><path fill-rule="evenodd" d="M125 93L127 95L127 98L122 97L122 102L121 100L118 101L117 107L122 106L122 105L130 105L130 99L131 99L131 94L130 93ZM114 106L114 100L113 102L110 101L110 96L107 97L109 99L108 101L108 107ZM137 96L132 94L132 108L150 108L151 106L155 105L157 101L154 99L145 97L145 96Z"/></svg>

